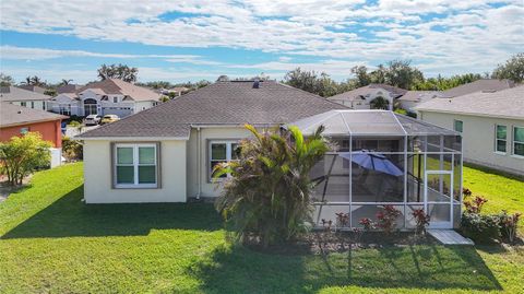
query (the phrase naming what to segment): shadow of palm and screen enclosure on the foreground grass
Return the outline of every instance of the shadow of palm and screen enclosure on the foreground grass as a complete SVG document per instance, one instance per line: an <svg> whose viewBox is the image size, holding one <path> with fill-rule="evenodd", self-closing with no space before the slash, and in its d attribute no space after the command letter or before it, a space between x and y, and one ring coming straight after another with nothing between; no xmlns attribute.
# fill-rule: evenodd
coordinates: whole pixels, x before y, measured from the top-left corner
<svg viewBox="0 0 524 294"><path fill-rule="evenodd" d="M273 256L223 247L192 264L189 273L202 281L204 293L315 293L335 286L385 292L502 289L474 247L421 245L326 256Z"/></svg>

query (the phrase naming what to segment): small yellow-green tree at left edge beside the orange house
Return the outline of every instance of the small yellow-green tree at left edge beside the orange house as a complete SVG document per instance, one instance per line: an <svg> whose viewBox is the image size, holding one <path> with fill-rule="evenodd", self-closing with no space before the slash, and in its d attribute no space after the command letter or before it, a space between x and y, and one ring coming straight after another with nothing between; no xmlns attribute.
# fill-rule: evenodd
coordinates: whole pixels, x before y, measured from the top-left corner
<svg viewBox="0 0 524 294"><path fill-rule="evenodd" d="M51 143L41 140L37 132L13 137L9 142L0 143L1 168L9 184L22 185L24 177L38 167L47 166L51 160L50 148Z"/></svg>

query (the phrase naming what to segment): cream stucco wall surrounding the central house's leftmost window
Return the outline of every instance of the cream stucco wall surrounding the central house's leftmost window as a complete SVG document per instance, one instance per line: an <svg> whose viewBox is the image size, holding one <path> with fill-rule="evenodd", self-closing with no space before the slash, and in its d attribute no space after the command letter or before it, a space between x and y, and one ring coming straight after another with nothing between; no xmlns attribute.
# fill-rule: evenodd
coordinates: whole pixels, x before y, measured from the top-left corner
<svg viewBox="0 0 524 294"><path fill-rule="evenodd" d="M114 189L110 141L84 142L86 203L186 202L187 141L162 141L160 188Z"/></svg>

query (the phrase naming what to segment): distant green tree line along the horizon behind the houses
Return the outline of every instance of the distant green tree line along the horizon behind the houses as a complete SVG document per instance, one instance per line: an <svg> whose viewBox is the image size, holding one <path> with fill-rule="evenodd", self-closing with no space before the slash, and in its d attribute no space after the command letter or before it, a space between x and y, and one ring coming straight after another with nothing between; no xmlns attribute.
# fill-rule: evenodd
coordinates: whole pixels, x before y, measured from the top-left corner
<svg viewBox="0 0 524 294"><path fill-rule="evenodd" d="M99 80L106 79L121 79L126 82L136 82L139 69L128 67L127 64L102 64L97 70ZM383 83L406 90L428 90L428 91L443 91L455 87L461 84L471 83L483 78L492 79L509 79L516 83L524 81L524 52L516 54L505 61L503 64L498 64L497 68L489 73L465 73L451 75L449 78L425 78L424 73L412 66L410 60L395 59L384 64L379 64L374 70L368 69L366 66L356 66L348 72L353 78L343 82L336 82L325 72L305 71L296 68L286 73L283 82L301 89L303 91L318 94L323 97L333 96L354 90L360 86L369 85L371 83ZM261 73L252 78L236 78L233 80L269 80L270 77ZM217 81L229 81L227 75L218 77ZM52 84L44 81L37 75L27 77L22 81L21 85L37 85L46 87L49 94L56 93L56 89L61 85L67 85L73 82L70 79L62 79L61 82ZM15 85L15 81L11 75L0 73L0 85L9 86ZM211 84L207 80L199 82L187 82L172 84L167 81L154 81L146 83L136 83L152 89L171 89L175 86L183 86L189 90L195 90ZM55 91L55 92L53 92Z"/></svg>

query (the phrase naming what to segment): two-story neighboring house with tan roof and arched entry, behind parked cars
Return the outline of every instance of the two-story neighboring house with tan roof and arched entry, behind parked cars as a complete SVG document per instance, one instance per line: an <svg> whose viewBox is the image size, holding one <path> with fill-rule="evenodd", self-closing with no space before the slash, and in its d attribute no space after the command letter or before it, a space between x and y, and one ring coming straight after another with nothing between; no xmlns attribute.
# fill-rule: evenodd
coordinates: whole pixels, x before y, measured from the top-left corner
<svg viewBox="0 0 524 294"><path fill-rule="evenodd" d="M61 93L49 110L68 116L117 115L127 117L159 103L160 94L118 79L87 84L74 93Z"/></svg>

